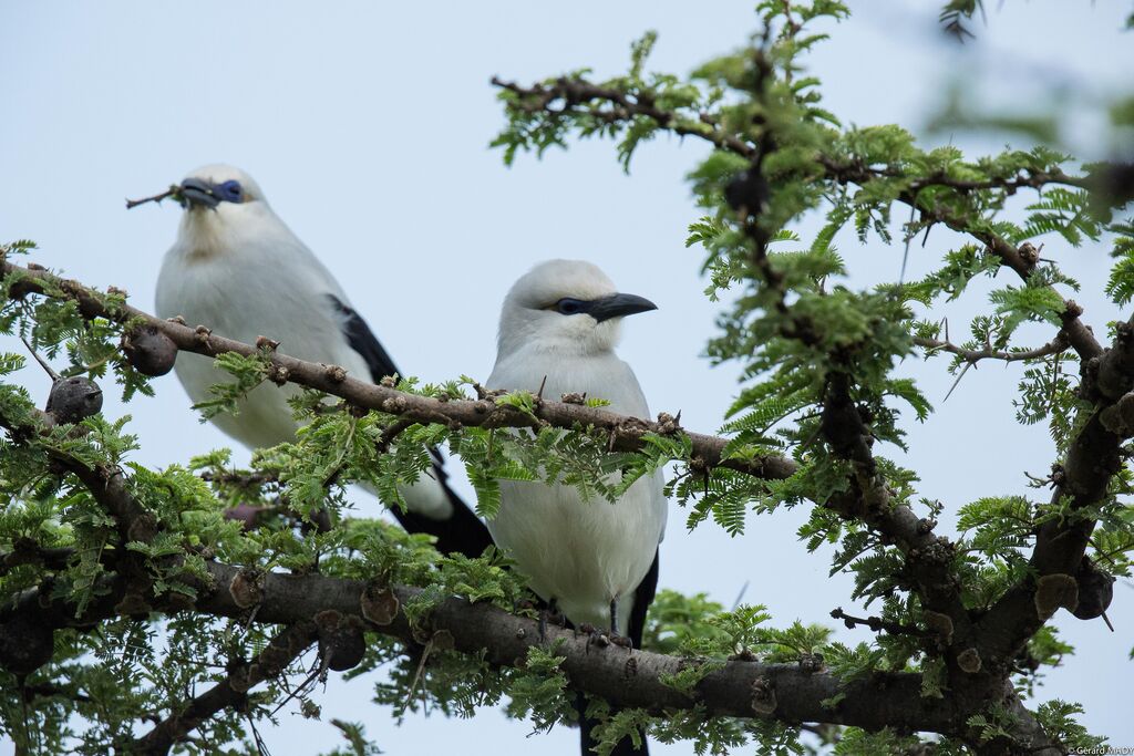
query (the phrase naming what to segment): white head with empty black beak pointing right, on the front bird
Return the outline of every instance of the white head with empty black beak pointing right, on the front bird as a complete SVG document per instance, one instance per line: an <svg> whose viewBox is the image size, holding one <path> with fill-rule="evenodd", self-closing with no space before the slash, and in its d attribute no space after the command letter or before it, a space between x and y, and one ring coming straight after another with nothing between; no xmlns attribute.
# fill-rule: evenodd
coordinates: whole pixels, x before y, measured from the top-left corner
<svg viewBox="0 0 1134 756"><path fill-rule="evenodd" d="M596 265L550 260L508 291L500 314L500 354L545 348L566 354L610 351L626 315L657 309L649 299L619 294Z"/></svg>

